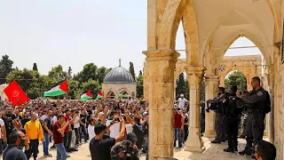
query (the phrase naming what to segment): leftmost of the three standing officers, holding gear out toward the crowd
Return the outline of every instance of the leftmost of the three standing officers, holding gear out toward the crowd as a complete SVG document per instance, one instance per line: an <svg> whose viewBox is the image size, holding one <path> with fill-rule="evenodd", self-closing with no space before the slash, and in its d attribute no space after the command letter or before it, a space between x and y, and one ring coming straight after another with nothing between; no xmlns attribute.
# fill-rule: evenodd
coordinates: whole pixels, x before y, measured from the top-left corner
<svg viewBox="0 0 284 160"><path fill-rule="evenodd" d="M223 106L222 106L222 100L220 96L225 93L224 87L218 88L218 95L214 100L207 100L208 103L212 105L216 105L217 108L214 109L216 116L215 116L215 132L216 132L216 138L215 140L212 140L211 143L221 143L221 141L225 141L225 127L223 125ZM213 108L212 108L213 109ZM209 111L208 111L209 112Z"/></svg>

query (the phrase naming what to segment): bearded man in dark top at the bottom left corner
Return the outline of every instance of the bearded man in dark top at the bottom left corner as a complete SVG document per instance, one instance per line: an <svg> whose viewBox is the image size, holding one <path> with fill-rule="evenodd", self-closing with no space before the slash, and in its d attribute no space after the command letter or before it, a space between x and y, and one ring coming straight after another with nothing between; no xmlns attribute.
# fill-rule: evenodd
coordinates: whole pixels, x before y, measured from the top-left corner
<svg viewBox="0 0 284 160"><path fill-rule="evenodd" d="M10 144L8 147L4 150L4 160L28 160L27 156L24 154L24 152L21 150L23 147L25 147L26 142L26 136L23 132L16 131L12 132L9 137Z"/></svg>

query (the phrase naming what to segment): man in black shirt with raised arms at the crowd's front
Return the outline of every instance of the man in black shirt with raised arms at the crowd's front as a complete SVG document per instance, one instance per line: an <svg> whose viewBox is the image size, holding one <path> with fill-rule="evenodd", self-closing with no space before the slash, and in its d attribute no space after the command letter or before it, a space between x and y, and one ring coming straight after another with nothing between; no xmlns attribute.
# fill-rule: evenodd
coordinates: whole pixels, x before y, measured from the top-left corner
<svg viewBox="0 0 284 160"><path fill-rule="evenodd" d="M103 140L106 130L114 124L116 116L114 116L113 122L106 127L106 124L96 124L95 125L95 133L96 137L91 139L90 141L90 151L91 151L91 160L110 160L110 149L114 146L114 144L124 137L125 125L124 119L121 117L120 121L122 123L122 128L120 134L114 138Z"/></svg>

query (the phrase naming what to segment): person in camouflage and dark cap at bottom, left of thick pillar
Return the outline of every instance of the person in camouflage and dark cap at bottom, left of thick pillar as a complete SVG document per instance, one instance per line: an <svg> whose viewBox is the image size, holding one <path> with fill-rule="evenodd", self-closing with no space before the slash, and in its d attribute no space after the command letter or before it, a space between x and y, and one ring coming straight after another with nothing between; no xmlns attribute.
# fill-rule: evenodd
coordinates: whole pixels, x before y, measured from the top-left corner
<svg viewBox="0 0 284 160"><path fill-rule="evenodd" d="M112 160L138 160L137 140L137 136L133 132L129 132L126 140L116 143L111 149Z"/></svg>

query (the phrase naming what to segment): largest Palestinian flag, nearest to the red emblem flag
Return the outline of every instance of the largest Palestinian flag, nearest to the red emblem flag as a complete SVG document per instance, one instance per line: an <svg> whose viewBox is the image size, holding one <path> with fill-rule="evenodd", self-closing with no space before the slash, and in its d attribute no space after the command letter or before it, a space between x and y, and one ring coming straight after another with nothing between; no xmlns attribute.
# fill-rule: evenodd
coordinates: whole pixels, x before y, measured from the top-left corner
<svg viewBox="0 0 284 160"><path fill-rule="evenodd" d="M61 81L58 84L51 87L51 89L47 92L43 92L44 97L55 97L62 94L66 94L68 92L68 84L67 80Z"/></svg>

